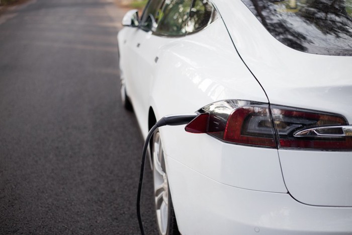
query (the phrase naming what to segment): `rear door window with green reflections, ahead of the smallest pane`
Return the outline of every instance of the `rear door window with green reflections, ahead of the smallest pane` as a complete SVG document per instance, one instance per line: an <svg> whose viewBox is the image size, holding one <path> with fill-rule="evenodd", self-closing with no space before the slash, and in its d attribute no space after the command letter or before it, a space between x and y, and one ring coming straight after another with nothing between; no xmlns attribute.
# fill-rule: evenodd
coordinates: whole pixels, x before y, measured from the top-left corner
<svg viewBox="0 0 352 235"><path fill-rule="evenodd" d="M192 0L166 0L158 14L156 33L167 36L185 35L191 5Z"/></svg>

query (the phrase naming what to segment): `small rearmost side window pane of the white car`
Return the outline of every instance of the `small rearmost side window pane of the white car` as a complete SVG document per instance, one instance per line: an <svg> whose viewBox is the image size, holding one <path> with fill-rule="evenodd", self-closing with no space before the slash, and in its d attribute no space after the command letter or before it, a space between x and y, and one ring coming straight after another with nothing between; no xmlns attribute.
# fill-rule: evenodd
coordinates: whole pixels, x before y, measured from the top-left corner
<svg viewBox="0 0 352 235"><path fill-rule="evenodd" d="M213 16L215 16L215 11L208 1L195 0L187 23L187 32L192 33L203 29L211 22Z"/></svg>

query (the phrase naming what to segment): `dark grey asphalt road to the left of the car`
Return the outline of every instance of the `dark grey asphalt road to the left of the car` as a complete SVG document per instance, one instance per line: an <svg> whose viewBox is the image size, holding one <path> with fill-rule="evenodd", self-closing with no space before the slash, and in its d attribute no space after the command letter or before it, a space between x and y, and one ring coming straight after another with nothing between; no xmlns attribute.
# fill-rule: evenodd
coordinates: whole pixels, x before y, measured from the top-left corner
<svg viewBox="0 0 352 235"><path fill-rule="evenodd" d="M37 0L0 17L1 234L139 233L143 140L120 104L121 14L104 0Z"/></svg>

